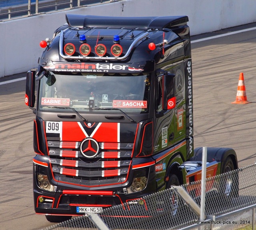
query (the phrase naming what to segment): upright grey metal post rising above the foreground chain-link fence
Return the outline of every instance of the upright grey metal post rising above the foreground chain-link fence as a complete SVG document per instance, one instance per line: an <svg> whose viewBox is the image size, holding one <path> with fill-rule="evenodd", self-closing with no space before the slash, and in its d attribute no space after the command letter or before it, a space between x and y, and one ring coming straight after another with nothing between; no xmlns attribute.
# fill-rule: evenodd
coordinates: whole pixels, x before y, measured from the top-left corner
<svg viewBox="0 0 256 230"><path fill-rule="evenodd" d="M207 158L207 148L206 148L206 147L203 147L203 156L202 156L202 177L201 177L200 221L203 221L203 220L204 220L205 184L206 184L206 158Z"/></svg>

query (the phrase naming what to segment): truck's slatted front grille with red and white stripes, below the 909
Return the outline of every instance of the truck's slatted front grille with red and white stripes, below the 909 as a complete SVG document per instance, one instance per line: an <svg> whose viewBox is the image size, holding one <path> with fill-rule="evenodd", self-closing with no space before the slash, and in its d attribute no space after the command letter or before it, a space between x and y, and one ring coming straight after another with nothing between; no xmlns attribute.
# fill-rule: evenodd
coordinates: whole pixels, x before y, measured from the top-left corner
<svg viewBox="0 0 256 230"><path fill-rule="evenodd" d="M126 181L131 165L133 144L99 143L95 158L84 157L80 142L48 141L54 179L81 186L103 186Z"/></svg>

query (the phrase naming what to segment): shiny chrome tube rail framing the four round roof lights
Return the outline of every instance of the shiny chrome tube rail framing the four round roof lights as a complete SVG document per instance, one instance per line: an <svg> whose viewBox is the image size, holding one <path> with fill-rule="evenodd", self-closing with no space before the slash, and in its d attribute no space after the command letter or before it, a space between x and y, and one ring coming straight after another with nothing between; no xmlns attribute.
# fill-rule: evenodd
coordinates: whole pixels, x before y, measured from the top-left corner
<svg viewBox="0 0 256 230"><path fill-rule="evenodd" d="M122 57L88 57L88 56L68 56L68 55L64 55L63 54L63 30L60 31L60 41L59 41L59 50L60 50L60 56L64 59L78 59L78 60L124 60L125 58L127 58L131 51L132 48L134 48L134 46L142 41L144 38L146 38L148 36L148 32L142 34L141 36L139 36L138 38L136 38L132 44L130 45L129 49L127 50L126 54Z"/></svg>

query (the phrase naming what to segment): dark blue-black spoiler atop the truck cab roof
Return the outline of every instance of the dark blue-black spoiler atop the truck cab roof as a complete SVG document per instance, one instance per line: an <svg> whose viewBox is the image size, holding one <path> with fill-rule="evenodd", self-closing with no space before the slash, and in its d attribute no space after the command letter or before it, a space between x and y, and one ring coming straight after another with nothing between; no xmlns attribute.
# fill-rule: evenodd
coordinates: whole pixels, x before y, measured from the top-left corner
<svg viewBox="0 0 256 230"><path fill-rule="evenodd" d="M185 25L188 16L159 16L159 17L112 17L66 14L66 22L71 27L116 27L116 28L142 28L162 29L172 26Z"/></svg>

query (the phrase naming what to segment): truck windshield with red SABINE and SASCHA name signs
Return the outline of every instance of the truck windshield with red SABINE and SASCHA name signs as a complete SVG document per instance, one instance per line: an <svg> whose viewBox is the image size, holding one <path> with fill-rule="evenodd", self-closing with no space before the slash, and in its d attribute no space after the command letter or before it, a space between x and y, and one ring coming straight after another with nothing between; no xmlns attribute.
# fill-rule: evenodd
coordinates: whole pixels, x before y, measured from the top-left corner
<svg viewBox="0 0 256 230"><path fill-rule="evenodd" d="M99 112L100 108L118 108L145 113L149 106L150 75L47 72L40 80L39 90L40 110L70 107L80 112L97 108L90 112Z"/></svg>

